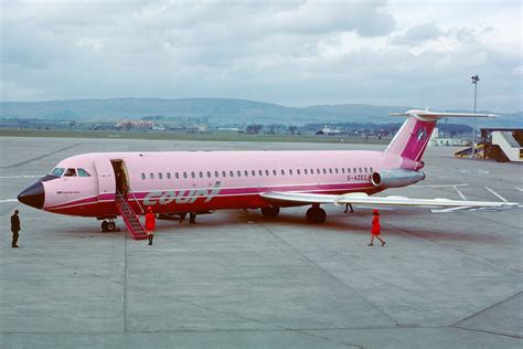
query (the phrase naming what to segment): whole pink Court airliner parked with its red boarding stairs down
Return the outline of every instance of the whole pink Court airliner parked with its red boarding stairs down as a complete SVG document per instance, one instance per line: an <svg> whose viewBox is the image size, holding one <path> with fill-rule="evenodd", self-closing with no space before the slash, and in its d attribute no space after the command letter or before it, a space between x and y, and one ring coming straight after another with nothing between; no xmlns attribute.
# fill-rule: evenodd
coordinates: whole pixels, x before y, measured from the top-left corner
<svg viewBox="0 0 523 349"><path fill-rule="evenodd" d="M423 154L442 117L492 117L408 110L385 151L159 151L93 152L62 160L24 189L22 203L44 211L104 220L114 231L120 215L142 239L139 215L151 207L159 215L211 210L262 209L277 216L280 208L310 205L307 220L325 221L321 204L427 205L452 208L514 207L513 202L371 197L387 188L425 179ZM193 215L194 216L194 215Z"/></svg>

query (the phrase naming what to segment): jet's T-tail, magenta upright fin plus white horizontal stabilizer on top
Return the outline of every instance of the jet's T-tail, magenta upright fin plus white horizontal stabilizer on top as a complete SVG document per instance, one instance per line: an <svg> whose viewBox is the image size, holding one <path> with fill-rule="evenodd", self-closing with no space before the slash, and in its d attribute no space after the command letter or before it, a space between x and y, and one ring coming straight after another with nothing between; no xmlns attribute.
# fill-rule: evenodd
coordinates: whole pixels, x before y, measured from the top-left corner
<svg viewBox="0 0 523 349"><path fill-rule="evenodd" d="M421 160L438 119L444 117L497 117L493 114L438 113L428 109L408 110L391 115L407 116L407 119L385 149L385 152L399 155L414 161Z"/></svg>

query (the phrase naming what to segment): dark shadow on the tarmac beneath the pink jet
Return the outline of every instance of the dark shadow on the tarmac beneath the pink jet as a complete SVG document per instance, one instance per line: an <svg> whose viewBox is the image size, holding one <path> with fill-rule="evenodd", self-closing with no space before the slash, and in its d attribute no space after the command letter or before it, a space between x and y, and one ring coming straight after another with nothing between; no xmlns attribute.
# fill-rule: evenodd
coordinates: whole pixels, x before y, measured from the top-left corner
<svg viewBox="0 0 523 349"><path fill-rule="evenodd" d="M209 233L213 230L225 230L234 225L237 230L242 225L249 226L252 224L263 224L270 230L285 230L287 226L303 228L307 231L316 231L318 234L327 232L369 235L371 230L371 212L369 210L360 210L354 213L329 212L328 220L322 224L310 224L306 221L303 212L282 212L277 218L265 218L257 211L242 211L231 210L215 213L213 216L202 215L196 219L196 224L190 224L188 220L182 221L158 221L157 234L177 234L177 233L196 233L198 231ZM449 229L449 226L441 228L439 224L425 224L423 229L416 222L423 220L423 216L429 214L435 218L438 214L429 212L409 210L394 210L382 211L382 230L385 236L406 236L407 239L425 239L433 242L478 242L478 243L498 243L505 241L500 235L490 233L473 233L473 232L457 232ZM451 213L453 214L453 213ZM388 220L391 218L391 221ZM413 221L412 226L398 226L396 222L392 221ZM82 237L104 237L104 236L120 236L126 233L124 224L120 220L117 225L121 231L114 233L100 233L96 225L86 230L78 226L77 229L67 229L62 233L68 232L74 235L85 235ZM130 237L129 237L130 239Z"/></svg>

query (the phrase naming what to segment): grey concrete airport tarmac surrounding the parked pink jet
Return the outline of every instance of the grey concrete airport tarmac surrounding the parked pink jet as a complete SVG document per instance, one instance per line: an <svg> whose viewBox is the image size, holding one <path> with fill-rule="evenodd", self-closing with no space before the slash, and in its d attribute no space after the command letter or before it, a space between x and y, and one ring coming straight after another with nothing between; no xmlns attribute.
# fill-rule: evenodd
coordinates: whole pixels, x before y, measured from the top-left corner
<svg viewBox="0 0 523 349"><path fill-rule="evenodd" d="M371 208L325 205L320 225L306 223L306 208L274 220L220 211L194 225L159 221L148 246L9 200L89 151L381 148L0 138L0 347L523 347L522 209L383 209L385 247L366 246ZM523 202L522 166L455 150L429 148L425 181L381 195Z"/></svg>

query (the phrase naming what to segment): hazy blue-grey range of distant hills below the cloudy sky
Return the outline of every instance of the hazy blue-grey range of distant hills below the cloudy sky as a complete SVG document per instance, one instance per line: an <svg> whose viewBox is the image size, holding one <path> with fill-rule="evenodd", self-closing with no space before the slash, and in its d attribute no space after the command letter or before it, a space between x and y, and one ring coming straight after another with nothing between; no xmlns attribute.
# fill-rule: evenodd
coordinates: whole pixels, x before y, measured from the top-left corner
<svg viewBox="0 0 523 349"><path fill-rule="evenodd" d="M373 106L365 104L314 105L297 108L271 103L231 98L65 99L47 102L0 102L0 118L116 121L161 115L164 117L205 118L212 125L305 125L312 123L386 124L394 120L394 118L387 116L389 113L405 112L410 108L412 107L408 106ZM495 112L489 113L500 114ZM523 127L523 112L500 115L502 116L501 118L491 119L487 123L478 119L478 126ZM452 121L462 123L463 120L455 119Z"/></svg>

